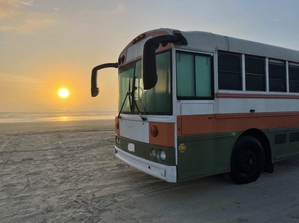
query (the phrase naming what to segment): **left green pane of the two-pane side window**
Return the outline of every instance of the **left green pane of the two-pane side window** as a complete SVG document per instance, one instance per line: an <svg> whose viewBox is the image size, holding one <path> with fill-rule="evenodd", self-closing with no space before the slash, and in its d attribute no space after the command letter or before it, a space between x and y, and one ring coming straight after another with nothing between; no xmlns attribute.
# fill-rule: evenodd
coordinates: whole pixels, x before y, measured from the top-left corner
<svg viewBox="0 0 299 223"><path fill-rule="evenodd" d="M176 53L177 94L181 97L195 96L194 55Z"/></svg>

